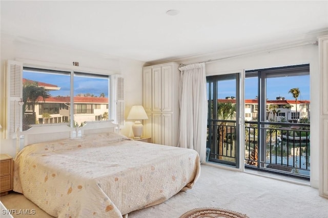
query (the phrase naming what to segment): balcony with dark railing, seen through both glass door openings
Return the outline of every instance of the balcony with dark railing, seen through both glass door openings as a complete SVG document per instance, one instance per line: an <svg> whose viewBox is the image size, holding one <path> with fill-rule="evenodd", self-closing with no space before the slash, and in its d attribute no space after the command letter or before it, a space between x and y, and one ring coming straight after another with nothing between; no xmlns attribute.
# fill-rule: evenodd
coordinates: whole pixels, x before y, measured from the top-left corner
<svg viewBox="0 0 328 218"><path fill-rule="evenodd" d="M235 121L210 120L210 162L238 164L235 125ZM310 124L245 122L244 135L245 167L310 178Z"/></svg>

